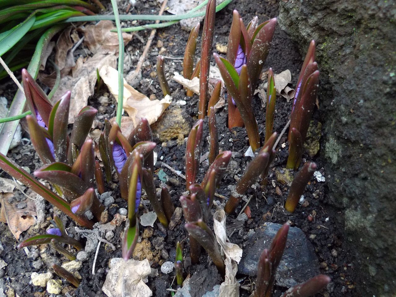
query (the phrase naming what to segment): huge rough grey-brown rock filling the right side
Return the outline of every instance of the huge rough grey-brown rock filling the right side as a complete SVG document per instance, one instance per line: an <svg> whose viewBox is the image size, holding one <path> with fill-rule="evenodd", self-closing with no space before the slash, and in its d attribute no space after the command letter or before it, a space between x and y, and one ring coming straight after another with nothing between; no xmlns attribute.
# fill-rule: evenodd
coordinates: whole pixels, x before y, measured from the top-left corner
<svg viewBox="0 0 396 297"><path fill-rule="evenodd" d="M302 53L317 43L329 198L345 208L361 296L396 292L394 1L280 1Z"/></svg>

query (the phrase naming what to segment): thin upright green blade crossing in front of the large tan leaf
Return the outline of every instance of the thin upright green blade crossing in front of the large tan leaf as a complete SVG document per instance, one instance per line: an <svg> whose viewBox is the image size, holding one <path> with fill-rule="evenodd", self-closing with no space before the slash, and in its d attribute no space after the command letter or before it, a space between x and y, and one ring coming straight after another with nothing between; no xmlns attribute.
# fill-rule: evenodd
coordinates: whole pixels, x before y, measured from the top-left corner
<svg viewBox="0 0 396 297"><path fill-rule="evenodd" d="M122 104L124 100L124 38L122 37L117 0L111 0L111 5L113 7L114 20L116 22L118 34L118 103L116 121L118 126L121 126Z"/></svg>

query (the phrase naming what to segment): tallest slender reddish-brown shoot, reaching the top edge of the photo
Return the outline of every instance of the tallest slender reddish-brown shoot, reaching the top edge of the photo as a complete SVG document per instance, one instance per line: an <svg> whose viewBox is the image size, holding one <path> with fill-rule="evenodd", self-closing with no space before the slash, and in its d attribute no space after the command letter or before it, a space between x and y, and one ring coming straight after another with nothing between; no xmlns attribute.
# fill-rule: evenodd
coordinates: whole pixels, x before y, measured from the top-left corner
<svg viewBox="0 0 396 297"><path fill-rule="evenodd" d="M203 119L206 116L206 103L208 96L208 79L210 68L210 53L213 44L214 26L216 17L216 0L209 0L206 6L206 14L204 21L204 28L202 31L202 46L201 46L201 73L200 73L200 95L198 118Z"/></svg>

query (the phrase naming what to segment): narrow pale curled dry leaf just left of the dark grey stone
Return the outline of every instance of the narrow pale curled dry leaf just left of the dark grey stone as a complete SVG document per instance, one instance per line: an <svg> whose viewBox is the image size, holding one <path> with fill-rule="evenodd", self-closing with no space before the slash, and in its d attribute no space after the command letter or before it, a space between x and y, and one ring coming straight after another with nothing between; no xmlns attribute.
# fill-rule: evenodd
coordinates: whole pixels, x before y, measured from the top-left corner
<svg viewBox="0 0 396 297"><path fill-rule="evenodd" d="M242 249L238 244L232 244L227 238L225 228L225 211L219 209L213 215L213 229L215 230L216 240L220 245L221 251L229 258L239 263L242 257Z"/></svg>

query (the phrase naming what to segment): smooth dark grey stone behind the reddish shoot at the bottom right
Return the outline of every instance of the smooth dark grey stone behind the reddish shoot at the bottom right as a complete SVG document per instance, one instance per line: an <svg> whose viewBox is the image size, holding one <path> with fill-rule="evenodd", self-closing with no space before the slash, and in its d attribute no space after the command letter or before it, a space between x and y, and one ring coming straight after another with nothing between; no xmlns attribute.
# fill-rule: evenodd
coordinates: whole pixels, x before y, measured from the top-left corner
<svg viewBox="0 0 396 297"><path fill-rule="evenodd" d="M270 247L272 238L280 227L282 227L280 224L268 223L267 226L255 230L255 234L247 240L243 248L238 273L257 275L257 261L261 252ZM305 237L303 230L291 227L283 257L276 272L276 285L291 287L318 274L319 265L314 247Z"/></svg>

